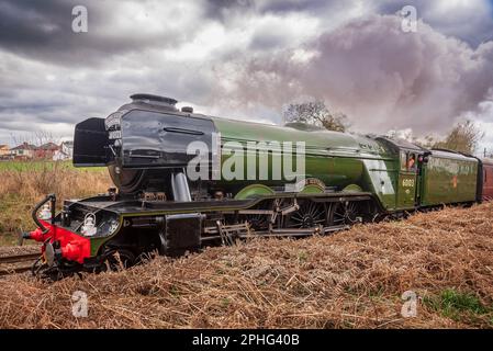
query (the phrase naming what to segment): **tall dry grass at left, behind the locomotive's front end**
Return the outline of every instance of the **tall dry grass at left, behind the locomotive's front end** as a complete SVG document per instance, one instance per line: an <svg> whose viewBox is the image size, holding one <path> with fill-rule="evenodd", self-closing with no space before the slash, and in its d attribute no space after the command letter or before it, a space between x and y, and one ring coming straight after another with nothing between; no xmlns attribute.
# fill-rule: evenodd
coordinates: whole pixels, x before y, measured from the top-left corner
<svg viewBox="0 0 493 351"><path fill-rule="evenodd" d="M105 169L80 170L66 162L0 162L0 246L15 242L20 228L34 229L31 211L46 194L56 193L60 200L87 196L111 184Z"/></svg>

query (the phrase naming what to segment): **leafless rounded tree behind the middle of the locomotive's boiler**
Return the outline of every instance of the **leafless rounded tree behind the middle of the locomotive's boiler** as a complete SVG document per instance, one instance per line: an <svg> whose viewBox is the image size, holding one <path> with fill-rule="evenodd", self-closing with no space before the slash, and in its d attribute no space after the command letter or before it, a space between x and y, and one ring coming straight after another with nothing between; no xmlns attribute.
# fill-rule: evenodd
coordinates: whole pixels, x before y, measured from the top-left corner
<svg viewBox="0 0 493 351"><path fill-rule="evenodd" d="M349 127L344 113L330 112L325 102L320 100L290 104L284 111L284 118L287 122L316 125L335 132L346 132Z"/></svg>

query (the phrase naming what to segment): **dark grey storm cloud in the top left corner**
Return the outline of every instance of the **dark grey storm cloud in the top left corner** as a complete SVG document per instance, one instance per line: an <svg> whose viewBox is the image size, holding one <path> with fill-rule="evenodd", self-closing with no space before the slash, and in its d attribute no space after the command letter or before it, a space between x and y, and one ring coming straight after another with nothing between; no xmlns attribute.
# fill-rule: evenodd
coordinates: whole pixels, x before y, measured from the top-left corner
<svg viewBox="0 0 493 351"><path fill-rule="evenodd" d="M0 2L0 48L52 64L85 66L104 63L102 58L153 47L170 47L184 39L180 31L141 34L143 27L122 33L111 32L111 23L126 21L132 29L134 18L126 13L117 19L119 4L98 0L3 0ZM137 2L138 3L138 2ZM146 3L143 1L145 7ZM72 8L88 9L88 33L71 30ZM149 7L149 12L153 10ZM147 14L148 15L148 14ZM163 18L166 21L166 16Z"/></svg>

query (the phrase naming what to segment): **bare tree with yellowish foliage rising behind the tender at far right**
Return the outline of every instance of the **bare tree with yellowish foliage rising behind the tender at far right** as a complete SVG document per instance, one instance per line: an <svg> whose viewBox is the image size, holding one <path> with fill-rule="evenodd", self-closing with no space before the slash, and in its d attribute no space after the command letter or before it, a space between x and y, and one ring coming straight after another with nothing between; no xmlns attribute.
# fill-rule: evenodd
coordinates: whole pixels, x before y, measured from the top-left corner
<svg viewBox="0 0 493 351"><path fill-rule="evenodd" d="M482 132L471 120L458 123L444 140L430 140L432 147L444 148L466 154L474 154L478 144L484 137Z"/></svg>

